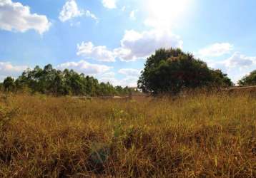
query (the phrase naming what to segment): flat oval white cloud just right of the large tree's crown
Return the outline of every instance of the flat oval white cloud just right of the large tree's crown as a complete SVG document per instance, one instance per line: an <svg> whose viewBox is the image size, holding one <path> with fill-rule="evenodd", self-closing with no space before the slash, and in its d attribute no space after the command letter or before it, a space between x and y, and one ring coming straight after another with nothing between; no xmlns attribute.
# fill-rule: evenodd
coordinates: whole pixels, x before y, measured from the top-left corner
<svg viewBox="0 0 256 178"><path fill-rule="evenodd" d="M197 56L200 58L219 57L230 53L232 50L233 46L230 43L214 43L198 51Z"/></svg>

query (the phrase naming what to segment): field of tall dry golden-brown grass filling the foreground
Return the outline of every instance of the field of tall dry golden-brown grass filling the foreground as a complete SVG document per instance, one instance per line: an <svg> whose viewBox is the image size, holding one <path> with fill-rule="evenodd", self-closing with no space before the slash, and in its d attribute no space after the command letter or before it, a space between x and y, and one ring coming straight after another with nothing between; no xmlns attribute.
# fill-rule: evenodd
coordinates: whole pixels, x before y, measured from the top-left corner
<svg viewBox="0 0 256 178"><path fill-rule="evenodd" d="M256 177L256 98L1 95L0 177Z"/></svg>

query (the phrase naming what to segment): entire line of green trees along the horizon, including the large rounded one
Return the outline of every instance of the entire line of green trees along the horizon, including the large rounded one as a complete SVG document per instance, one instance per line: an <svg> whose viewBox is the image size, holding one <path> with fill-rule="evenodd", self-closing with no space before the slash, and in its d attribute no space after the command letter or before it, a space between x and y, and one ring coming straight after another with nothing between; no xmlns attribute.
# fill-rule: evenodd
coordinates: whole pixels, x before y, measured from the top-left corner
<svg viewBox="0 0 256 178"><path fill-rule="evenodd" d="M184 53L179 48L160 48L147 58L138 80L144 93L172 93L195 88L228 88L234 86L222 70L209 68L207 63ZM238 85L256 85L256 70L239 80ZM7 77L0 84L4 91L29 90L31 93L52 95L128 95L134 90L110 83L99 83L93 77L74 70L54 69L50 64L43 69L36 66L25 70L19 78Z"/></svg>

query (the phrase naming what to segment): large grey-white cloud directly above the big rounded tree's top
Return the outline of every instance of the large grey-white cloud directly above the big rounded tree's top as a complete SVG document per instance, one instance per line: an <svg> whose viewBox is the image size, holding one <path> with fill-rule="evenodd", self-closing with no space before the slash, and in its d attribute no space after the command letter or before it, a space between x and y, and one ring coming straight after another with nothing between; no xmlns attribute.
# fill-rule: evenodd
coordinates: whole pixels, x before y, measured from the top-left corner
<svg viewBox="0 0 256 178"><path fill-rule="evenodd" d="M114 49L115 56L122 61L135 61L147 58L159 48L182 48L182 40L171 31L125 31L121 47Z"/></svg>

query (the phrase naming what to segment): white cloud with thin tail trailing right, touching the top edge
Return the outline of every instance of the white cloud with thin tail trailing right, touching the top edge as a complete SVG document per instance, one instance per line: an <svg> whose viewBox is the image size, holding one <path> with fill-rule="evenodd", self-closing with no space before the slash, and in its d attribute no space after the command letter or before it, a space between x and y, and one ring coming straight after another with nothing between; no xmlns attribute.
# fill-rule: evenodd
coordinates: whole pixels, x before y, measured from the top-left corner
<svg viewBox="0 0 256 178"><path fill-rule="evenodd" d="M97 16L92 14L90 11L79 10L75 0L68 0L62 7L62 10L59 14L59 20L64 22L68 21L69 19L84 15L94 19L95 21L98 21Z"/></svg>

